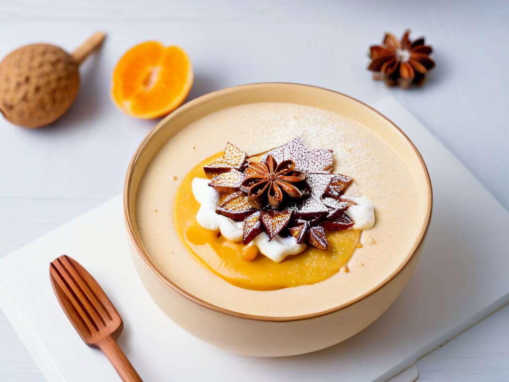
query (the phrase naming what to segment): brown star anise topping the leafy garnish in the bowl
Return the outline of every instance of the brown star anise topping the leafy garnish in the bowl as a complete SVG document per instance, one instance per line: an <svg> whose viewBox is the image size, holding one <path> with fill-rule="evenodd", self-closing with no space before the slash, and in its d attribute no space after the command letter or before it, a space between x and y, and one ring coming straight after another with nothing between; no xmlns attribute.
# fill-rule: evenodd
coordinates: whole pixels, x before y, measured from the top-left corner
<svg viewBox="0 0 509 382"><path fill-rule="evenodd" d="M245 174L247 178L240 185L240 189L247 193L247 200L254 208L262 209L268 202L270 208L277 209L284 196L302 198L306 175L295 170L293 160L284 160L277 164L269 154L265 163L249 162Z"/></svg>

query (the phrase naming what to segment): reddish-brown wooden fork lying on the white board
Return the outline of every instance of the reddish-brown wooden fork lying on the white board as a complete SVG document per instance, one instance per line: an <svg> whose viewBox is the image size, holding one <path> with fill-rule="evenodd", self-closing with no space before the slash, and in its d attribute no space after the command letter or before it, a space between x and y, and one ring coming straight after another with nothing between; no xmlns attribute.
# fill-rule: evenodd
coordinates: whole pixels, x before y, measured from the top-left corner
<svg viewBox="0 0 509 382"><path fill-rule="evenodd" d="M124 382L140 382L117 344L124 326L97 281L76 260L63 255L49 264L49 278L62 309L83 341L99 347Z"/></svg>

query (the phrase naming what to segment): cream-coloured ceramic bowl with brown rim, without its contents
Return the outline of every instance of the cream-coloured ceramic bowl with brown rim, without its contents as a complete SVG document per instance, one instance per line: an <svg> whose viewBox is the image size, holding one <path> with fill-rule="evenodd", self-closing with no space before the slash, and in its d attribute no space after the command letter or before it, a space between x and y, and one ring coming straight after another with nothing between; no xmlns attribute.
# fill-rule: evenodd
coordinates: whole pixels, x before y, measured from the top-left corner
<svg viewBox="0 0 509 382"><path fill-rule="evenodd" d="M256 102L314 106L351 118L392 147L405 161L415 181L416 208L421 211L422 221L411 250L385 280L340 306L299 316L257 316L226 310L203 301L168 279L140 240L135 215L137 190L159 149L179 130L200 118L227 107ZM127 171L124 188L124 214L132 257L156 304L194 336L221 348L253 356L289 356L319 350L353 336L376 320L398 297L415 268L430 222L431 207L432 190L425 163L397 126L351 97L297 84L244 85L207 94L180 107L162 120L138 147Z"/></svg>

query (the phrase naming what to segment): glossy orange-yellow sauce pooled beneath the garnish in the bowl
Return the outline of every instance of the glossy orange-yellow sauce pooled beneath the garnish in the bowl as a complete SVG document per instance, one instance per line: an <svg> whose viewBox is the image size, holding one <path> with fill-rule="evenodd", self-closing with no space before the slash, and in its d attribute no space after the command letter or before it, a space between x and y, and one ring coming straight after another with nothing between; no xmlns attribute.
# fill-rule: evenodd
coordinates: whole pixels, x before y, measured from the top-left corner
<svg viewBox="0 0 509 382"><path fill-rule="evenodd" d="M225 281L246 289L274 290L315 284L335 275L352 257L361 231L351 228L329 231L327 251L308 246L298 255L275 263L259 254L246 261L242 243L231 242L196 222L200 204L192 195L193 178L206 178L203 166L221 157L222 152L198 163L182 180L175 197L175 225L180 238L202 264Z"/></svg>

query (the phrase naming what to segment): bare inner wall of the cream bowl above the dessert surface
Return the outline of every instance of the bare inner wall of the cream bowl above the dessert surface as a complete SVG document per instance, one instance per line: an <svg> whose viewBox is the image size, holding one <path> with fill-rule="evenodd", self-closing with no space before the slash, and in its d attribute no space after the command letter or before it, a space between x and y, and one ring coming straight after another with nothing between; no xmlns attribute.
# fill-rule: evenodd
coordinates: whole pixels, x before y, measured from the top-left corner
<svg viewBox="0 0 509 382"><path fill-rule="evenodd" d="M135 201L140 180L142 180L150 161L174 134L190 123L210 113L231 106L256 102L289 102L314 106L351 118L369 127L371 131L387 142L405 161L412 174L418 193L418 201L416 201L415 206L419 210L419 221L422 222L413 248L409 251L399 267L394 269L394 272L386 278L384 282L376 285L372 290L359 296L354 301L334 308L341 309L380 288L397 275L408 263L426 233L431 214L432 193L426 166L420 154L406 135L391 121L371 107L340 93L296 84L253 84L210 93L180 107L176 112L162 120L148 134L147 138L138 147L129 166L124 188L124 213L131 240L139 252L139 255L142 256L143 260L152 269L154 274L159 277L163 283L167 284L169 288L175 289L198 304L206 305L209 309L217 308L219 311L224 312L221 308L210 306L210 304L182 290L164 276L143 247L136 223ZM317 312L316 314L323 314L323 312Z"/></svg>

